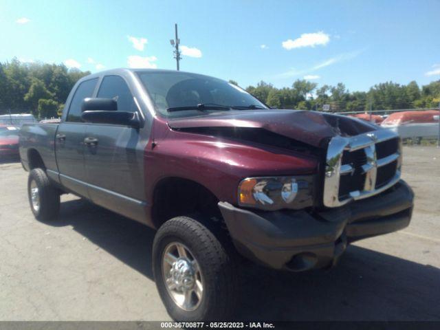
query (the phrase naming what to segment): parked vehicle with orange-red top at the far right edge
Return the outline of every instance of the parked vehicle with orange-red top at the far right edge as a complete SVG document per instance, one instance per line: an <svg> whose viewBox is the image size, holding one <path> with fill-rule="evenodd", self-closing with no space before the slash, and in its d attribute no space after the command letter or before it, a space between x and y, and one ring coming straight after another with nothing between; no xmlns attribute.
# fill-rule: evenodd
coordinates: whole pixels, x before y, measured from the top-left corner
<svg viewBox="0 0 440 330"><path fill-rule="evenodd" d="M381 126L399 134L401 139L437 137L439 115L438 110L395 112L388 115Z"/></svg>

